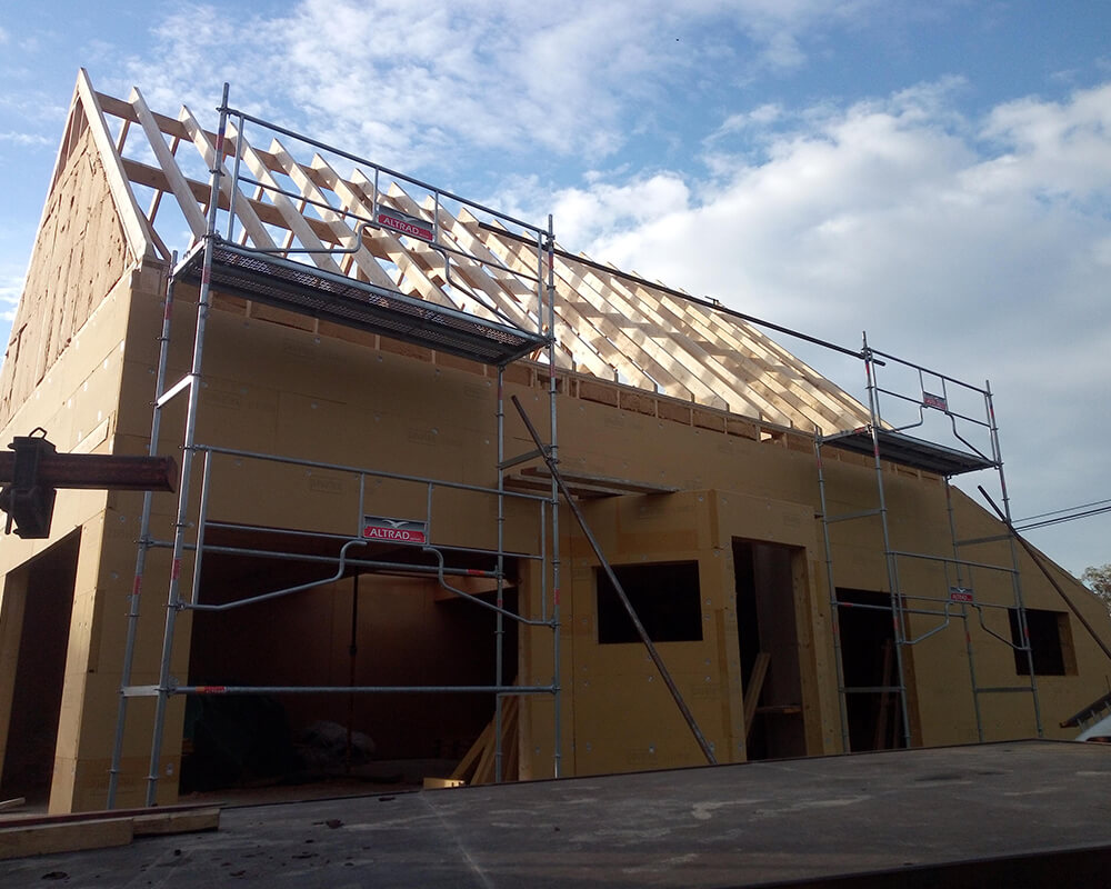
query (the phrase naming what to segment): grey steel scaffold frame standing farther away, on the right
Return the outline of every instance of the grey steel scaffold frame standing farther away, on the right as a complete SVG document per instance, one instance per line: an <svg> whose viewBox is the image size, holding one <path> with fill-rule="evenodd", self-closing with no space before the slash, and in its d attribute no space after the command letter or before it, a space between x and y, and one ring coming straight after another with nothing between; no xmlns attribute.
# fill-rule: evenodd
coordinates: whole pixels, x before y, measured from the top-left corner
<svg viewBox="0 0 1111 889"><path fill-rule="evenodd" d="M1034 673L1032 647L1028 630L1027 610L1022 598L1022 585L1019 571L1018 551L1014 546L1014 538L1010 533L1001 533L998 537L988 539L961 540L958 533L957 520L952 505L951 479L953 476L963 475L980 470L993 470L998 477L999 489L1002 493L1002 515L1005 523L1011 521L1010 497L1007 490L1007 478L1003 473L1003 460L999 446L999 428L995 422L995 411L992 402L991 386L984 383L983 388L962 382L953 377L930 370L920 364L897 358L895 356L872 349L868 344L868 336L863 338L863 349L860 353L864 362L865 384L868 389L869 411L871 422L867 428L859 428L848 432L837 432L829 436L822 434L820 429L814 432L814 453L818 463L818 487L820 499L820 516L822 521L822 540L825 549L825 577L830 603L830 620L833 636L833 660L835 666L838 703L841 719L841 741L843 749L851 748L849 737L848 718L848 696L854 693L880 693L895 695L899 698L900 707L900 729L904 747L910 747L911 720L907 695L907 675L904 649L909 649L947 629L954 617L960 618L964 631L965 656L969 667L969 680L972 692L972 703L975 713L977 736L980 741L984 740L983 719L980 708L980 696L990 693L1021 692L1031 696L1033 718L1038 737L1043 737L1041 719L1041 708L1038 699L1038 680ZM885 389L880 386L877 377L877 368L888 364L909 370L917 374L919 382L919 394L910 397L904 392ZM940 393L931 393L927 388L927 381L940 388ZM952 396L972 397L982 400L983 416L974 417L963 413L950 406ZM901 426L891 426L885 422L881 411L881 396L895 401L902 401L917 406L918 419ZM909 429L922 427L927 422L927 411L938 411L948 418L953 438L967 448L952 449L941 444L934 444L918 438L904 436ZM965 431L971 427L971 432ZM985 447L981 441L978 447L970 438L979 432L987 437ZM855 453L868 453L872 457L875 476L877 506L872 509L863 509L854 512L831 516L828 505L828 481L822 449L837 447ZM888 520L888 505L884 486L884 461L891 461L941 476L945 491L945 510L950 532L951 556L927 552L908 552L892 547L891 531ZM888 596L887 606L871 606L860 602L847 602L839 599L838 587L834 580L834 558L833 543L830 536L830 526L841 521L854 521L861 519L878 519L880 535L883 547L883 560L887 569ZM1008 541L1010 566L990 565L962 558L962 548L971 546ZM911 559L934 563L940 566L948 587L948 596L912 596L903 590L899 576L900 559ZM1011 578L1012 602L1000 605L997 602L982 601L977 598L971 583L973 572L1003 572ZM854 608L864 610L888 611L891 615L893 653L894 653L894 678L892 685L849 687L844 676L844 663L842 659L842 641L840 627L840 611L842 608ZM940 609L940 610L939 610ZM984 609L1004 609L1013 611L1017 616L1019 638L1022 640L1017 645L999 632L992 630L984 622ZM979 627L988 636L1009 646L1018 652L1022 652L1027 660L1030 681L1025 686L980 686L977 680L974 646L970 632L970 610L977 612ZM910 617L932 616L939 619L930 629L918 636L910 632Z"/></svg>

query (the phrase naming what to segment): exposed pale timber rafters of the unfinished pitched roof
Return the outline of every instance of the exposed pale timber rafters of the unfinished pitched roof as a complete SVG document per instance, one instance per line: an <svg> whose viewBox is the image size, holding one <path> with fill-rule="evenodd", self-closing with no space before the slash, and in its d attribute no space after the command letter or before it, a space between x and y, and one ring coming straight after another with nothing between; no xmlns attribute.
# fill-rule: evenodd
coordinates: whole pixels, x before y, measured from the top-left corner
<svg viewBox="0 0 1111 889"><path fill-rule="evenodd" d="M857 400L707 300L572 256L546 243L541 229L514 231L510 217L256 120L233 116L218 149L188 108L176 118L154 113L138 89L127 100L99 93L82 70L52 184L91 139L127 252L169 261L171 247L188 247L176 242L196 244L206 233L219 150L221 208L234 207L232 252L237 244L266 251L333 281L342 276L522 330L542 327L538 300L551 282L561 369L782 426L832 432L869 422ZM34 313L24 299L13 342L24 326L49 323Z"/></svg>

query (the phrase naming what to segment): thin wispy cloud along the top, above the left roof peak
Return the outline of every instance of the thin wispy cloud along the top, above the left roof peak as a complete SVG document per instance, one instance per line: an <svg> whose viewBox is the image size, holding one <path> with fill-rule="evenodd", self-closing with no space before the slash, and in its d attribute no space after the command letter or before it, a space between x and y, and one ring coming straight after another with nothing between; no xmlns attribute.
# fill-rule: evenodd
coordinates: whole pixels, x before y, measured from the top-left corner
<svg viewBox="0 0 1111 889"><path fill-rule="evenodd" d="M597 161L654 131L655 107L681 79L722 62L798 67L804 37L873 4L459 0L414 13L386 0L302 0L281 16L231 18L192 3L162 19L156 51L127 69L156 107L207 110L228 80L232 104L270 116L292 103L294 126L408 169L476 148Z"/></svg>

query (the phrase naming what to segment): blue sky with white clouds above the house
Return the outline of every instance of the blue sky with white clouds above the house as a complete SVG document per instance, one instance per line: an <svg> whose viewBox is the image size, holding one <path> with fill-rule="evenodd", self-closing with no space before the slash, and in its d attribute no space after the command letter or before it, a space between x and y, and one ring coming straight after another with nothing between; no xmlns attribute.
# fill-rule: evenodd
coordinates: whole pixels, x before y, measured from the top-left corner
<svg viewBox="0 0 1111 889"><path fill-rule="evenodd" d="M995 392L1015 518L1111 498L1102 0L0 0L0 338L79 66ZM851 359L780 338L861 394ZM1074 572L1111 513L1031 531Z"/></svg>

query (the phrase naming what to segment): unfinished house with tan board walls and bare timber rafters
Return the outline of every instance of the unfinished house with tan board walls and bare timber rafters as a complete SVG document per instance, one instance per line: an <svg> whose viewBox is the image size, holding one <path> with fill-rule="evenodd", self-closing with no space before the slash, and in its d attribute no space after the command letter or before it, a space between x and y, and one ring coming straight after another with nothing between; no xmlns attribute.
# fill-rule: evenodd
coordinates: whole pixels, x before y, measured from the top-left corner
<svg viewBox="0 0 1111 889"><path fill-rule="evenodd" d="M857 400L553 229L79 74L0 443L180 480L3 539L0 793L170 802L321 727L473 781L1074 732L1108 616L1008 533L988 386L865 342Z"/></svg>

